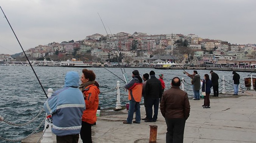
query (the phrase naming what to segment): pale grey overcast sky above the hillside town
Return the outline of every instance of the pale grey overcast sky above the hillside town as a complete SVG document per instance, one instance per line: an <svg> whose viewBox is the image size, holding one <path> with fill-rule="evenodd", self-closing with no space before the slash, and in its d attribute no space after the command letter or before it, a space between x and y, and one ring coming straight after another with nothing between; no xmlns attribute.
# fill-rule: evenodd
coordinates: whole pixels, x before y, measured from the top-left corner
<svg viewBox="0 0 256 143"><path fill-rule="evenodd" d="M0 0L25 50L112 33L193 33L237 44L256 43L256 0ZM108 28L107 28L108 29ZM0 13L0 54L21 48Z"/></svg>

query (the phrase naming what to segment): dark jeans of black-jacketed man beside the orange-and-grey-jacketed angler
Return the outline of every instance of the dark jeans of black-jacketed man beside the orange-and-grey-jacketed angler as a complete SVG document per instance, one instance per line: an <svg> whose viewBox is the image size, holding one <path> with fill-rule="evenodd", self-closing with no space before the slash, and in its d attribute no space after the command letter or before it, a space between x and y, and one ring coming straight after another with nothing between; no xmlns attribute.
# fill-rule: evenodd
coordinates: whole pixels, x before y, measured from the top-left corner
<svg viewBox="0 0 256 143"><path fill-rule="evenodd" d="M152 110L152 107L154 105L154 116L152 118L152 115L153 115L153 110ZM158 115L158 106L159 106L159 98L147 98L147 117L148 117L148 120L153 120L153 121L156 121L157 119L157 115Z"/></svg>

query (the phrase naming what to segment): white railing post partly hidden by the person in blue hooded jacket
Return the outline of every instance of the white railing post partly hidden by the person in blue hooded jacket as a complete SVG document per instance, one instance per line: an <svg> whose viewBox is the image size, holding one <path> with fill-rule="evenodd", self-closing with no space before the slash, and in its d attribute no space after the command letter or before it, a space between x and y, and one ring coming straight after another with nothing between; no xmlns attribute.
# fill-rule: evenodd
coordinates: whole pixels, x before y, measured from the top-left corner
<svg viewBox="0 0 256 143"><path fill-rule="evenodd" d="M49 88L47 91L48 91L47 96L48 96L48 98L50 98L52 96L53 89ZM47 121L47 118L45 118L44 129L46 128L46 126L48 124L49 123ZM43 139L41 140L41 143L53 143L53 140L52 140L52 126L49 126L46 129L46 131L44 132Z"/></svg>

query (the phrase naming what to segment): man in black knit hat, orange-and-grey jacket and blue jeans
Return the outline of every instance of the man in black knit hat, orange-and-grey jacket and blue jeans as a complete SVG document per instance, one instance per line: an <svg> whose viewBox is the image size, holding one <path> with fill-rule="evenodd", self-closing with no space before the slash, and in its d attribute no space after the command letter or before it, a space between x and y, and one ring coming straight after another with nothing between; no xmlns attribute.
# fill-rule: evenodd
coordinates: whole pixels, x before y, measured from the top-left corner
<svg viewBox="0 0 256 143"><path fill-rule="evenodd" d="M135 111L135 121L133 123L140 124L140 100L142 95L142 79L138 70L132 72L133 79L124 87L128 89L129 110L128 117L123 124L132 124L133 113Z"/></svg>

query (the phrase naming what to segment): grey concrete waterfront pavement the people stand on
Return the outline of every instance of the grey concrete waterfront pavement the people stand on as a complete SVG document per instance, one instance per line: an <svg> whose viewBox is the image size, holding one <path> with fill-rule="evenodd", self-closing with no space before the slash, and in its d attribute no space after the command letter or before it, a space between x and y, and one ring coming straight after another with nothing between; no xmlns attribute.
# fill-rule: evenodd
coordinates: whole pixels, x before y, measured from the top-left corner
<svg viewBox="0 0 256 143"><path fill-rule="evenodd" d="M256 92L247 92L239 96L220 94L211 97L210 109L202 108L203 99L189 100L191 111L185 126L184 143L256 143ZM141 118L144 118L143 105L140 111ZM94 142L146 143L151 124L158 126L157 142L165 142L166 124L160 110L158 120L152 123L141 120L140 124L123 124L127 118L126 109L105 110L101 115L97 125L92 127ZM23 142L36 142L40 135L41 132Z"/></svg>

